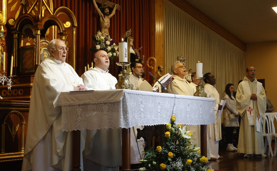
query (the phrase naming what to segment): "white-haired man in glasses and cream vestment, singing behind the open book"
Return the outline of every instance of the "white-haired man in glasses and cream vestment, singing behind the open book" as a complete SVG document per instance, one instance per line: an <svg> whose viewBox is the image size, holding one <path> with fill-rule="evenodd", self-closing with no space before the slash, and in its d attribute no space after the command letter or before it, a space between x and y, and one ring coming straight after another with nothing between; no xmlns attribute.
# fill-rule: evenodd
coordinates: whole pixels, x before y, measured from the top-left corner
<svg viewBox="0 0 277 171"><path fill-rule="evenodd" d="M190 83L184 79L186 73L186 67L180 62L176 61L171 66L171 72L174 74L174 80L171 82L170 88L172 93L177 93L179 95L190 95L193 96L194 90ZM199 130L198 130L199 128ZM186 130L191 131L193 134L191 140L199 146L200 142L200 126L197 125L187 125Z"/></svg>

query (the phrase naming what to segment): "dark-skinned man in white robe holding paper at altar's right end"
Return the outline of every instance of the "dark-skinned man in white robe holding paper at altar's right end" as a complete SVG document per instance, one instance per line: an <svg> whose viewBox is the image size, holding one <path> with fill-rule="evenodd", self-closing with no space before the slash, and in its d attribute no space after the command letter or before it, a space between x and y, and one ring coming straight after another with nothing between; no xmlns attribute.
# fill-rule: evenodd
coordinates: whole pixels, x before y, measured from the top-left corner
<svg viewBox="0 0 277 171"><path fill-rule="evenodd" d="M207 158L209 160L216 160L223 158L218 154L219 140L221 140L221 116L218 116L218 111L222 109L220 105L220 96L215 88L216 79L210 72L206 73L205 77L205 92L207 97L216 99L215 106L215 124L207 125Z"/></svg>

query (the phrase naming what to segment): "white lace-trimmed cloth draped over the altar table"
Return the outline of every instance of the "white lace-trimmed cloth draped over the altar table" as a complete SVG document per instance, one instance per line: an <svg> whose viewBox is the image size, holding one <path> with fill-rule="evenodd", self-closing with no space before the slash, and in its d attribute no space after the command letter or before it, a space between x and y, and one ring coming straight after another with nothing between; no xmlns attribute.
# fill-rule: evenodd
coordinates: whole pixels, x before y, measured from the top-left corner
<svg viewBox="0 0 277 171"><path fill-rule="evenodd" d="M62 130L130 128L170 122L215 123L215 99L128 89L62 92L54 102L62 107Z"/></svg>

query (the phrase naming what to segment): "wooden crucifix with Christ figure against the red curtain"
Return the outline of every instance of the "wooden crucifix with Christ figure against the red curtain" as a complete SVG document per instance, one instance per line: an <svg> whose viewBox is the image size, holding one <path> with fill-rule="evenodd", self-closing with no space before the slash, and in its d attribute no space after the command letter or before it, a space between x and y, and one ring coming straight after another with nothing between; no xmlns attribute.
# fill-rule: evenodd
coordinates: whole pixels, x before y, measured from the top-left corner
<svg viewBox="0 0 277 171"><path fill-rule="evenodd" d="M101 7L98 8L96 2L101 4ZM109 34L110 28L110 17L115 14L115 10L120 11L120 6L106 0L93 0L94 7L96 8L97 13L100 16L100 32L102 34ZM109 12L109 8L113 8L112 12Z"/></svg>

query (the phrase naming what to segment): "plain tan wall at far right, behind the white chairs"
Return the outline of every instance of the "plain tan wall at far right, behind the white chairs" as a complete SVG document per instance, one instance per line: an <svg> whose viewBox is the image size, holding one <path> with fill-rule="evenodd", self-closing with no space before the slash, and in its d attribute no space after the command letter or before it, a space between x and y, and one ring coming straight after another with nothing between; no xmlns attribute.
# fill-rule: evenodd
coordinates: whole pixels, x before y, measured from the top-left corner
<svg viewBox="0 0 277 171"><path fill-rule="evenodd" d="M245 54L245 66L255 67L257 70L256 78L265 79L267 98L271 100L275 108L277 106L277 80L275 78L277 73L275 71L277 64L276 54L277 41L247 44L247 51Z"/></svg>

